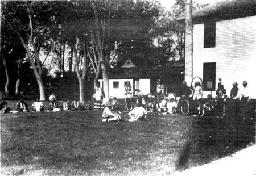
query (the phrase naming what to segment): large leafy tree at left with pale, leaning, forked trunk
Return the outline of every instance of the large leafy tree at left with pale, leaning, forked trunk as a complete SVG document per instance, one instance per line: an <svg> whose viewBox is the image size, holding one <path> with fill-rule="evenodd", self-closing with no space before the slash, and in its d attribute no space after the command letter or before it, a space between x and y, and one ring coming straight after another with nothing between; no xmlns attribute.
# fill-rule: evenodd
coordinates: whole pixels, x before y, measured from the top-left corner
<svg viewBox="0 0 256 176"><path fill-rule="evenodd" d="M38 82L40 100L46 100L39 51L49 40L47 25L51 23L51 13L48 2L4 1L1 5L1 21L22 43Z"/></svg>

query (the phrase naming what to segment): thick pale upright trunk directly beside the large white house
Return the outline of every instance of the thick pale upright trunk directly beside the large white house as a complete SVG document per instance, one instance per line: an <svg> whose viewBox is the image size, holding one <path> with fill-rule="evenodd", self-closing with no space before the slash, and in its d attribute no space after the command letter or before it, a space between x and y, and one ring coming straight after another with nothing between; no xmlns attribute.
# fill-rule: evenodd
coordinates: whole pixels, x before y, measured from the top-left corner
<svg viewBox="0 0 256 176"><path fill-rule="evenodd" d="M192 26L192 0L186 0L185 18L185 81L193 79L193 26Z"/></svg>

